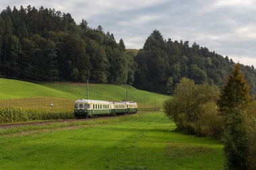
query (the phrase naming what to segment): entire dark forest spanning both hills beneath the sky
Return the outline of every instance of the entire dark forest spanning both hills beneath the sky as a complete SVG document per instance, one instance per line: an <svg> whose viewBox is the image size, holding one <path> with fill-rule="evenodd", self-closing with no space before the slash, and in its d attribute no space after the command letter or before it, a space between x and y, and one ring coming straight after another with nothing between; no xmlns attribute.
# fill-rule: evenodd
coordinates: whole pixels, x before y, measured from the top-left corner
<svg viewBox="0 0 256 170"><path fill-rule="evenodd" d="M195 42L165 39L153 30L137 53L126 49L102 26L76 24L70 13L28 5L0 13L0 77L24 81L71 81L129 84L172 94L183 78L222 87L235 63L232 58ZM256 91L256 71L241 63Z"/></svg>

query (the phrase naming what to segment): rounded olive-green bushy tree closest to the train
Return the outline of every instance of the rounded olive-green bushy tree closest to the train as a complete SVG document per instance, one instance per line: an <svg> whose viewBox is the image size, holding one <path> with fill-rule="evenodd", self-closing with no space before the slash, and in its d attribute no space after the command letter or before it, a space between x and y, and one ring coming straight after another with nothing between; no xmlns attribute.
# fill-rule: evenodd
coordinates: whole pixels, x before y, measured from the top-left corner
<svg viewBox="0 0 256 170"><path fill-rule="evenodd" d="M195 85L193 80L183 78L172 97L164 101L164 112L174 120L179 130L187 134L199 134L197 121L202 114L202 107L207 102L216 101L218 92L216 86Z"/></svg>

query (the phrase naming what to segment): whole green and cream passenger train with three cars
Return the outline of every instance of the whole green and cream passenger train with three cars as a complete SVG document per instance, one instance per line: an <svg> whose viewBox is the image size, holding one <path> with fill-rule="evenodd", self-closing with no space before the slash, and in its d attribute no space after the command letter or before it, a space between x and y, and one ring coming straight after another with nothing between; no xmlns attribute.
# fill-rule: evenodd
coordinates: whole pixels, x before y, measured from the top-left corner
<svg viewBox="0 0 256 170"><path fill-rule="evenodd" d="M77 99L75 101L75 118L135 113L137 113L137 103L135 101L102 101L93 99Z"/></svg>

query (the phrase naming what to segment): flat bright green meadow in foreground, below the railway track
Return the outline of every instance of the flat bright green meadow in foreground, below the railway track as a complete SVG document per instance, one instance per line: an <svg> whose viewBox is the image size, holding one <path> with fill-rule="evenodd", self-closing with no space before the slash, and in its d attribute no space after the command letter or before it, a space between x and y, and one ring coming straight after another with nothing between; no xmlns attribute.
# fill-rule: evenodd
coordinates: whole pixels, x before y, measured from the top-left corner
<svg viewBox="0 0 256 170"><path fill-rule="evenodd" d="M175 128L162 113L140 113L1 129L0 169L223 168L219 141L187 136Z"/></svg>

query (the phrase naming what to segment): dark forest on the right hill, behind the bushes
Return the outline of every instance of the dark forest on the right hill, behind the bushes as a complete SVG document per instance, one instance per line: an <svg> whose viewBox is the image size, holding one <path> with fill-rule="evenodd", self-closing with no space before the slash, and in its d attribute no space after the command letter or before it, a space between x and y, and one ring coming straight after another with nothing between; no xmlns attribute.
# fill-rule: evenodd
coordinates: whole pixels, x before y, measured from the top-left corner
<svg viewBox="0 0 256 170"><path fill-rule="evenodd" d="M234 62L195 42L164 40L158 30L154 30L136 57L138 69L135 86L148 91L172 93L183 77L196 84L208 83L222 87L232 71ZM256 72L253 66L241 66L246 79L255 91Z"/></svg>

